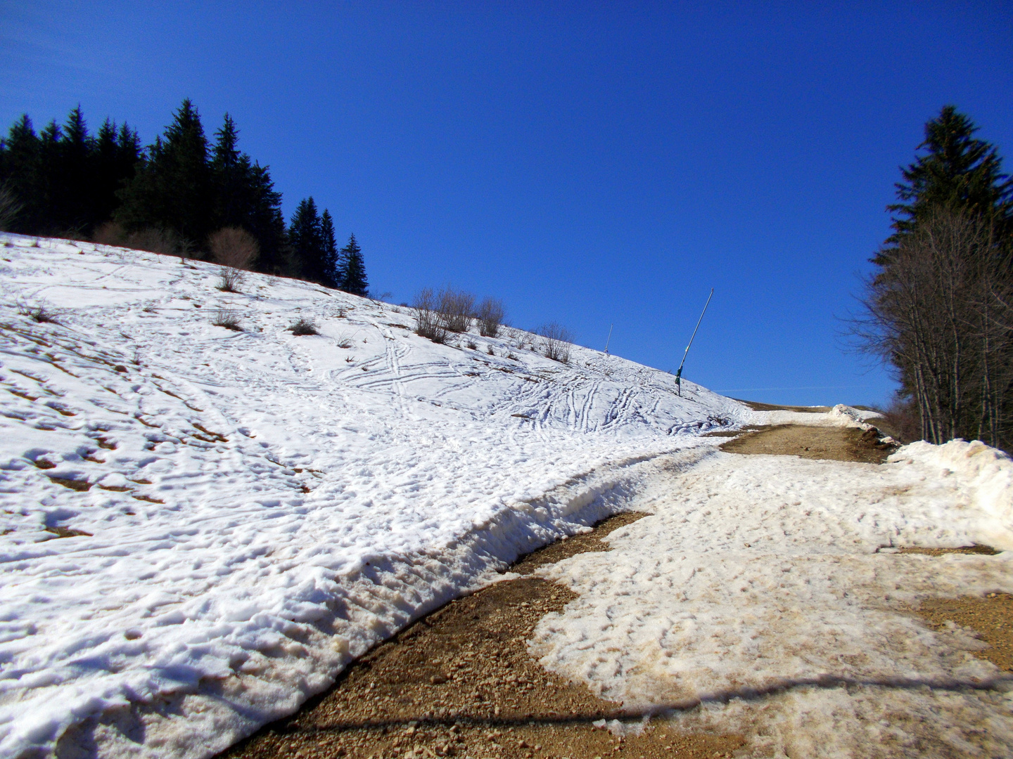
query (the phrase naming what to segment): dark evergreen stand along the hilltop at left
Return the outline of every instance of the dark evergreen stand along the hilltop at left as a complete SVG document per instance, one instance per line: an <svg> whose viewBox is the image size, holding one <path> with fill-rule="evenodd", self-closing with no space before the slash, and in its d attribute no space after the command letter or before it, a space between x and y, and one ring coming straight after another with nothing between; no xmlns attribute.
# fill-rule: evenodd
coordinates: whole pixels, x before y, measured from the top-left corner
<svg viewBox="0 0 1013 759"><path fill-rule="evenodd" d="M338 250L312 197L287 228L268 167L239 150L228 113L213 137L189 100L147 147L110 119L89 134L80 107L38 133L22 115L0 140L0 228L193 257L209 255L218 230L239 228L256 241L253 268L366 294L355 236Z"/></svg>

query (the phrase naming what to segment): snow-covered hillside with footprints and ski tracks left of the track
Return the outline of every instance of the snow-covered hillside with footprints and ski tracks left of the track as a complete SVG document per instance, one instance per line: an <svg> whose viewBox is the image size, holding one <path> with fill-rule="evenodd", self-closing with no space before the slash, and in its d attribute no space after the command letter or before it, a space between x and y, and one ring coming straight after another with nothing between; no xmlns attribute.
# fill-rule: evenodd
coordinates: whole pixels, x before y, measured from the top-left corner
<svg viewBox="0 0 1013 759"><path fill-rule="evenodd" d="M3 756L209 755L617 508L641 462L757 417L519 330L436 345L306 282L0 244ZM59 323L19 313L40 305Z"/></svg>

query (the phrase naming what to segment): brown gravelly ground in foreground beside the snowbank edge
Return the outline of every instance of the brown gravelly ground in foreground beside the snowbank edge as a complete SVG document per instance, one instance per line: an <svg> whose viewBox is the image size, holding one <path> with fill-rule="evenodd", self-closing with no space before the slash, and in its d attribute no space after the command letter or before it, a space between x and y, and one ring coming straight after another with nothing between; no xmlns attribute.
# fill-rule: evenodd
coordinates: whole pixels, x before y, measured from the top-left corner
<svg viewBox="0 0 1013 759"><path fill-rule="evenodd" d="M619 739L596 728L595 721L629 715L622 704L545 671L528 653L539 619L575 598L531 573L574 554L608 551L600 538L642 516L620 514L530 554L512 568L523 577L415 622L350 665L297 714L220 756L730 757L744 744L738 736L650 725Z"/></svg>

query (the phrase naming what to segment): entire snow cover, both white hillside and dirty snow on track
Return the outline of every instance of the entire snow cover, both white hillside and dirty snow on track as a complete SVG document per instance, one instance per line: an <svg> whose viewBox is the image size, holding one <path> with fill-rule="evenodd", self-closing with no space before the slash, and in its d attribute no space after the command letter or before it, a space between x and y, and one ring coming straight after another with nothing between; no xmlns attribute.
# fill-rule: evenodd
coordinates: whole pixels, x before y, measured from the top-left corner
<svg viewBox="0 0 1013 759"><path fill-rule="evenodd" d="M0 244L2 756L209 756L519 555L633 508L652 516L615 551L546 570L581 594L532 642L547 667L645 712L767 720L758 751L804 748L795 724L840 755L876 744L863 720L890 698L954 742L984 745L961 737L972 718L1013 745L973 642L888 608L1013 591L1008 553L890 553L1013 550L1013 463L980 443L879 468L722 453L700 433L863 415L680 398L668 373L576 346L561 364L520 330L436 345L408 309L306 282L224 293L209 263ZM58 323L21 313L37 306ZM300 317L320 334L294 336ZM836 733L855 724L857 743Z"/></svg>

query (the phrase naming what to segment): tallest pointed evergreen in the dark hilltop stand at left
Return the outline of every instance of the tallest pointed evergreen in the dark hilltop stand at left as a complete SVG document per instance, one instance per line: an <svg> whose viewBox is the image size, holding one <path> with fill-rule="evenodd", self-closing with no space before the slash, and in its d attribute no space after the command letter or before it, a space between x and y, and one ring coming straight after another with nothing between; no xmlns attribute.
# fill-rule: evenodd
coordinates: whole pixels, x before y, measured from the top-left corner
<svg viewBox="0 0 1013 759"><path fill-rule="evenodd" d="M189 99L148 154L120 193L116 220L128 230L165 227L194 245L204 244L214 221L214 189L201 114Z"/></svg>

